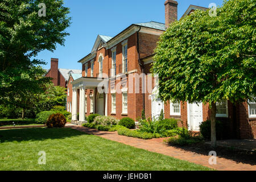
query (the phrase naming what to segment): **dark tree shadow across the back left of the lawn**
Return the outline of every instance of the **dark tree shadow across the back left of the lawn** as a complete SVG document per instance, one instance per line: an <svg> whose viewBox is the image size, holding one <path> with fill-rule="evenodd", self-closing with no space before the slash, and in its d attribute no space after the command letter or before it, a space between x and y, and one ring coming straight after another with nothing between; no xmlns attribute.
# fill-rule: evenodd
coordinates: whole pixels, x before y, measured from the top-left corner
<svg viewBox="0 0 256 182"><path fill-rule="evenodd" d="M24 141L42 141L47 139L64 139L70 137L79 137L88 135L77 130L69 128L31 128L31 129L9 129L0 130L0 142L24 142Z"/></svg>

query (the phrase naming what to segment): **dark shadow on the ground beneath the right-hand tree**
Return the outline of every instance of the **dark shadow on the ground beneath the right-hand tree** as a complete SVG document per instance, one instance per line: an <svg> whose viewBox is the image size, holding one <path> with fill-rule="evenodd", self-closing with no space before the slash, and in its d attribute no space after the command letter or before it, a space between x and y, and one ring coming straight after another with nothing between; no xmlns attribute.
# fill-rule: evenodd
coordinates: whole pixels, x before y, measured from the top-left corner
<svg viewBox="0 0 256 182"><path fill-rule="evenodd" d="M194 144L193 146L174 146L168 144L175 148L179 148L184 151L194 152L200 155L209 155L210 151L216 151L218 158L225 158L233 160L236 163L244 163L250 165L256 165L256 152L255 151L244 151L238 150L232 147L221 147L212 148L210 145L205 143Z"/></svg>

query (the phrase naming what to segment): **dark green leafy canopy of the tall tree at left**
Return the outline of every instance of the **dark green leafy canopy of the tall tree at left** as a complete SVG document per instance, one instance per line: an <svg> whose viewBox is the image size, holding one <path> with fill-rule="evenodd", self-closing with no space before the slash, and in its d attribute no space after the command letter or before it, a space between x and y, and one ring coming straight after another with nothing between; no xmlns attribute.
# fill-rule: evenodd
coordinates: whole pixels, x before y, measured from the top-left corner
<svg viewBox="0 0 256 182"><path fill-rule="evenodd" d="M46 5L46 16L39 16L40 3ZM32 57L64 45L71 23L68 13L63 0L0 2L0 104L20 105L19 97L26 100L44 91L42 84L49 78L38 77L43 72L38 65L44 62Z"/></svg>

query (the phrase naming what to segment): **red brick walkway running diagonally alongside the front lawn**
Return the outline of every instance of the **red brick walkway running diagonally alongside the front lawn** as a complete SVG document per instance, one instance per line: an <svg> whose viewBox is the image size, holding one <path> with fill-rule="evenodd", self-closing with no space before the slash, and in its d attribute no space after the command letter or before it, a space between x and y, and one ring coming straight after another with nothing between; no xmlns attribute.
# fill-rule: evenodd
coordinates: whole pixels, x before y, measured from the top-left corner
<svg viewBox="0 0 256 182"><path fill-rule="evenodd" d="M142 148L147 151L156 152L163 155L168 155L176 159L187 160L188 162L200 164L213 168L216 170L224 171L256 171L256 166L251 166L250 164L237 163L233 160L225 158L217 158L217 165L210 165L208 160L209 156L196 154L190 151L184 151L179 148L167 146L163 143L164 139L150 139L143 140L139 138L131 138L122 135L118 135L117 132L108 131L98 131L94 129L88 129L86 127L68 124L66 127L76 129L88 134L93 134L98 137L113 140L115 142L120 142L127 144L129 146Z"/></svg>

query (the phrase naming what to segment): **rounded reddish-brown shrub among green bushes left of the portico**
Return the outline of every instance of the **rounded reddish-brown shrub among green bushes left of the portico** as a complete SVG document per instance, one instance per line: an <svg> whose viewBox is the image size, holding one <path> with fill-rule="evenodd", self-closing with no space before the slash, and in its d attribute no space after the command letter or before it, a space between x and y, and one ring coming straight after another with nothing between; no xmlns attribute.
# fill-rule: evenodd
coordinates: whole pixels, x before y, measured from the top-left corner
<svg viewBox="0 0 256 182"><path fill-rule="evenodd" d="M47 127L64 127L67 120L63 114L52 114L46 123Z"/></svg>

